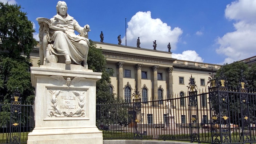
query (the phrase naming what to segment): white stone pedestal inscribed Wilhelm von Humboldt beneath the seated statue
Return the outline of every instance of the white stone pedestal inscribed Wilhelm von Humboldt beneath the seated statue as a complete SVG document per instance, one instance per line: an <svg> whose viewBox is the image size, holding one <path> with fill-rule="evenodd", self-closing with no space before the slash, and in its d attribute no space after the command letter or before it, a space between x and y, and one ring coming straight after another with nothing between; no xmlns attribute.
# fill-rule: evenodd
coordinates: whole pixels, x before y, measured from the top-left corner
<svg viewBox="0 0 256 144"><path fill-rule="evenodd" d="M28 144L102 144L96 127L96 81L101 73L80 65L31 67L36 88L35 128Z"/></svg>

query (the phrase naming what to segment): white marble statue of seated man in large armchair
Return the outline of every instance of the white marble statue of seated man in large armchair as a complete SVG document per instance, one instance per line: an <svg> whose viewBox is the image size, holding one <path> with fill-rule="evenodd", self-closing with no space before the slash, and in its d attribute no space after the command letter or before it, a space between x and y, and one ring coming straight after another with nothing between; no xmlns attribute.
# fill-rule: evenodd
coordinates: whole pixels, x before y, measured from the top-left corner
<svg viewBox="0 0 256 144"><path fill-rule="evenodd" d="M68 7L64 1L58 1L56 9L57 15L53 18L36 19L40 25L40 64L56 62L87 67L89 25L80 27L77 21L68 15ZM80 34L76 35L75 30Z"/></svg>

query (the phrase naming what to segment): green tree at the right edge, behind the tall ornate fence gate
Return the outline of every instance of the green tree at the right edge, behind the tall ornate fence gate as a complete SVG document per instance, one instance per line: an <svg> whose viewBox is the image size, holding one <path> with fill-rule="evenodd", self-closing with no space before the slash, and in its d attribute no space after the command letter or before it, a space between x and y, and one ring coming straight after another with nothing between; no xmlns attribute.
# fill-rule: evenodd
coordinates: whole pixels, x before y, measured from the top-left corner
<svg viewBox="0 0 256 144"><path fill-rule="evenodd" d="M256 86L256 64L252 64L249 67L247 64L241 61L236 61L231 64L224 64L217 72L215 80L217 84L220 84L220 80L225 80L225 86L231 90L239 91L241 88L241 82L245 83L245 88L248 89L248 92L255 91ZM243 103L241 103L240 95L236 93L231 93L228 95L229 113L231 121L239 120L240 123L243 119L241 111L244 110ZM217 99L217 94L215 99L212 99L213 109L218 114L219 112L219 101ZM255 123L255 119L252 119L255 116L256 103L253 102L251 96L248 96L248 105L249 105L249 116L251 117L250 123ZM242 117L242 118L241 118Z"/></svg>

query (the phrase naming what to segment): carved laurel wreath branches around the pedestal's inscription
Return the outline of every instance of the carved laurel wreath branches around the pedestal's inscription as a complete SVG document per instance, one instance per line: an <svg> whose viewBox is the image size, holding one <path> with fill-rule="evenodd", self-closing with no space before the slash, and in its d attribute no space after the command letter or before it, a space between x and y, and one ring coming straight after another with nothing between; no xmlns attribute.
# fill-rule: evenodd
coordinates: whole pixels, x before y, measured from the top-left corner
<svg viewBox="0 0 256 144"><path fill-rule="evenodd" d="M49 117L80 117L80 116L83 116L85 117L85 108L84 107L84 104L85 104L85 96L84 96L84 93L83 92L81 95L78 91L71 91L78 99L78 108L76 109L75 112L65 112L65 111L61 111L59 108L57 108L57 104L58 104L58 96L60 93L62 93L61 90L59 91L52 91L52 90L49 90L48 91L50 94L51 94L51 104L50 106L52 107L51 108L51 112L49 113Z"/></svg>

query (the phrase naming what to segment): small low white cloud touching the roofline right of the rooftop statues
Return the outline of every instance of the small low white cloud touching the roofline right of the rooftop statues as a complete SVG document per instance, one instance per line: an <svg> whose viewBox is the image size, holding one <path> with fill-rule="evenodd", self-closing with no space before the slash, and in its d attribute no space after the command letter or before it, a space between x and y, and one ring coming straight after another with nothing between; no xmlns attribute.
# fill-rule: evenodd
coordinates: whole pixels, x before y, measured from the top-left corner
<svg viewBox="0 0 256 144"><path fill-rule="evenodd" d="M188 60L203 63L203 59L196 53L196 51L183 51L182 54L172 53L172 58L178 60Z"/></svg>

